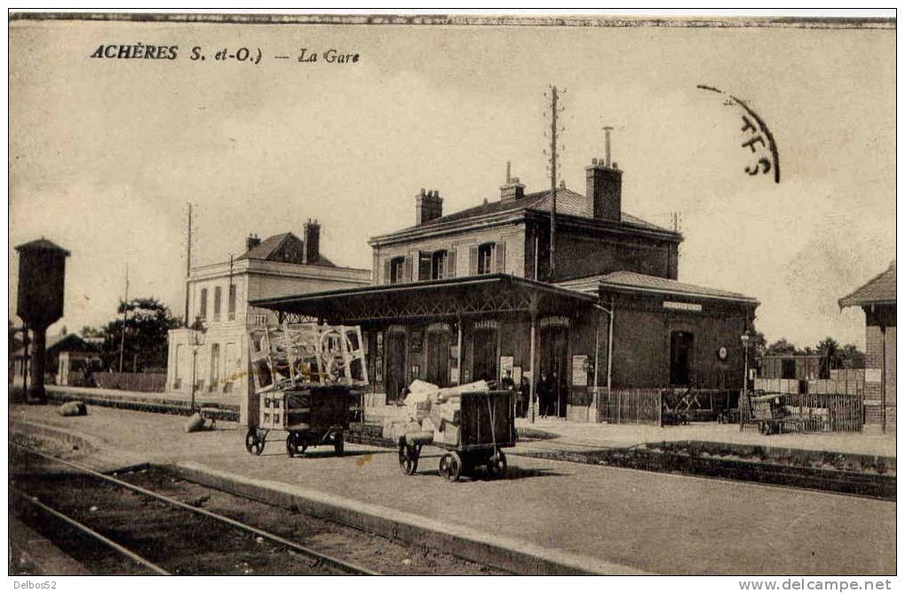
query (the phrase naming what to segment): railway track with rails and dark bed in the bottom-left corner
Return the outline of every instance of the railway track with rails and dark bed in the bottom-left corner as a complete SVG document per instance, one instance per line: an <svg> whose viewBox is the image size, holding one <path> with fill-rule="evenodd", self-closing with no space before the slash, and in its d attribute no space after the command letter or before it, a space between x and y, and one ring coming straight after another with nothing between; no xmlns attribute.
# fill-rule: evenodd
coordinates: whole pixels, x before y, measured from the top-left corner
<svg viewBox="0 0 905 593"><path fill-rule="evenodd" d="M250 557L260 556L264 553L271 556L264 562L264 566L278 571L276 573L381 574L376 570L313 550L296 541L223 514L184 503L165 494L153 492L148 488L130 484L112 475L101 474L90 467L81 466L60 457L53 457L13 442L10 445L25 455L40 457L50 464L58 464L75 470L75 474L70 474L68 477L80 477L82 489L85 483L90 481L93 481L94 485L103 485L100 490L108 491L103 496L108 501L113 496L123 499L123 491L129 492L132 500L129 500L128 505L136 512L129 513L129 509L127 509L126 513L131 514L131 517L127 517L126 521L122 521L120 518L119 521L111 520L107 524L103 524L97 520L90 521L81 516L74 516L78 513L73 513L71 509L60 510L53 508L52 504L43 502L42 497L54 497L49 494L49 491L62 490L54 488L53 484L48 487L45 483L43 488L35 488L43 491L40 495L28 492L28 489L23 489L18 485L19 482L35 483L33 477L29 478L27 475L24 478L15 479L17 484L11 486L11 494L14 494L19 504L24 504L30 508L32 513L43 516L42 521L62 523L66 528L78 532L82 539L92 541L95 544L91 546L92 548L106 548L110 554L118 555L122 559L119 566L115 560L100 561L100 566L110 567L109 569L113 571L159 575L212 574L220 572L217 569L229 568L224 565L230 565L233 569L242 569L243 566L249 565L247 560L250 560ZM55 483L60 479L58 474L53 477L52 482ZM151 504L155 508L150 508ZM88 514L91 513L90 509ZM145 516L143 517L143 515ZM166 524L161 524L160 515L166 517ZM149 521L142 521L143 518ZM179 545L177 546L179 554L168 554L167 551L171 551L173 546L169 545L167 538L185 534L182 532L187 532L189 537L183 538L180 544L186 543L186 540L189 542L194 540L195 546ZM263 543L275 545L276 548L262 552L261 544ZM193 547L195 550L192 549ZM149 556L153 558L149 558ZM195 561L186 562L186 557L193 558ZM129 565L131 565L131 569ZM211 570L211 572L205 572L206 570ZM245 569L246 573L247 570Z"/></svg>

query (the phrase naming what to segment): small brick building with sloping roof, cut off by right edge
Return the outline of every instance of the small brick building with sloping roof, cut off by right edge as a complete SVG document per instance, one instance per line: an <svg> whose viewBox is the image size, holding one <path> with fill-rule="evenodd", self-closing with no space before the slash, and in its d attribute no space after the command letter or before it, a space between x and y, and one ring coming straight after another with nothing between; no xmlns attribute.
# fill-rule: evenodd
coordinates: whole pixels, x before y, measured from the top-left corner
<svg viewBox="0 0 905 593"><path fill-rule="evenodd" d="M896 424L896 262L848 296L840 308L860 306L865 315L864 416L895 431Z"/></svg>

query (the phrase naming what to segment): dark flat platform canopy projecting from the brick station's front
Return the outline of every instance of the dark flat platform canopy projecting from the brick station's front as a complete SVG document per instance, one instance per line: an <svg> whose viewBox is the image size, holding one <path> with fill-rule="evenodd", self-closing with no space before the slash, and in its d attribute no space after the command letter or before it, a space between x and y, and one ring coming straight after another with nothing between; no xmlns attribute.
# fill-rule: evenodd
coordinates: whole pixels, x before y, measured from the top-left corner
<svg viewBox="0 0 905 593"><path fill-rule="evenodd" d="M346 288L250 302L285 321L316 317L329 323L456 318L526 313L571 315L595 296L507 274Z"/></svg>

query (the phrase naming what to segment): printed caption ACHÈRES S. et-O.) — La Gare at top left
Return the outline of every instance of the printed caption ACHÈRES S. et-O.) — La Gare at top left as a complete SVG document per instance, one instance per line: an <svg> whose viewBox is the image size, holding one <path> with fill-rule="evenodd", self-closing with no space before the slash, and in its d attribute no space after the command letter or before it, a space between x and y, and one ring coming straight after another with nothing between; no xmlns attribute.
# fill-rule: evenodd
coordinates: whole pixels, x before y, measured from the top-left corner
<svg viewBox="0 0 905 593"><path fill-rule="evenodd" d="M214 52L205 52L203 48L195 45L188 52L191 61L205 61L210 58L213 61L261 61L260 49L241 47L237 50L220 49ZM91 58L108 60L176 60L180 57L178 45L154 45L151 43L111 43L101 44L90 54ZM328 64L348 64L361 61L361 54L346 52L337 49L329 49L323 52L301 48L294 55L273 55L277 60L294 60L302 63L324 62Z"/></svg>

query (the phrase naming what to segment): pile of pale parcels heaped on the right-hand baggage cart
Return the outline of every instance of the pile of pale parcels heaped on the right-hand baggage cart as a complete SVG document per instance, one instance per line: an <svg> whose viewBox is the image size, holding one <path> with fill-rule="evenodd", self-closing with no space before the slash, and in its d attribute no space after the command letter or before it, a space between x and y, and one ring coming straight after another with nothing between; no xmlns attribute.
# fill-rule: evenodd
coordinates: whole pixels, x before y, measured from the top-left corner
<svg viewBox="0 0 905 593"><path fill-rule="evenodd" d="M405 416L391 420L384 436L394 441L405 437L413 443L438 443L457 447L462 413L462 393L487 393L490 384L476 381L458 387L439 388L427 381L415 380L405 398Z"/></svg>

